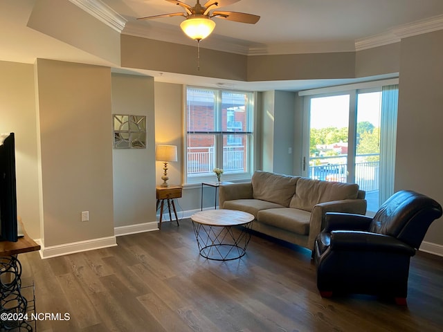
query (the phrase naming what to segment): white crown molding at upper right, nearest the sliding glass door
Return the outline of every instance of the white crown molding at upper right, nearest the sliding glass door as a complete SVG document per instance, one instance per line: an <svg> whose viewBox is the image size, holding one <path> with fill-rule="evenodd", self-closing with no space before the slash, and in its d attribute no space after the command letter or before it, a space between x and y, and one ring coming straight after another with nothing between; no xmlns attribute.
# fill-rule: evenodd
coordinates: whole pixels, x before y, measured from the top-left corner
<svg viewBox="0 0 443 332"><path fill-rule="evenodd" d="M355 50L366 50L368 48L394 44L400 42L403 38L432 33L437 30L443 30L443 15L397 26L379 35L356 39Z"/></svg>

